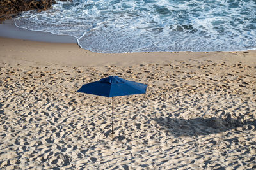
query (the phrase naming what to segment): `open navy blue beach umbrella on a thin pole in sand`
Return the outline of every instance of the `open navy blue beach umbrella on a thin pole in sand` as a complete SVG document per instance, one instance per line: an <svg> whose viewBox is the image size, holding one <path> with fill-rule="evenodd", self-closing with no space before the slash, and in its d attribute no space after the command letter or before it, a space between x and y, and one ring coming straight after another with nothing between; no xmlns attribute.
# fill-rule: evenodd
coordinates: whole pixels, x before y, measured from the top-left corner
<svg viewBox="0 0 256 170"><path fill-rule="evenodd" d="M99 81L83 85L77 92L112 97L112 134L114 128L114 97L132 94L145 94L147 85L124 80L118 76L109 76Z"/></svg>

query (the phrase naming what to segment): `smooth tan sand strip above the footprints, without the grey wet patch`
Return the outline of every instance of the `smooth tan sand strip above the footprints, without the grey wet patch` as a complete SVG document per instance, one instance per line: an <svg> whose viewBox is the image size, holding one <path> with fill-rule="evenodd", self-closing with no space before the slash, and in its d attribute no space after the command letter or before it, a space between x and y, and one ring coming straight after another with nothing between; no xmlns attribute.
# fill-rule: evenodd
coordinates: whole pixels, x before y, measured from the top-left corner
<svg viewBox="0 0 256 170"><path fill-rule="evenodd" d="M214 60L243 62L256 66L256 51L241 52L136 52L94 53L76 43L47 43L0 36L0 64L59 66L135 66L140 64L170 64L176 60Z"/></svg>

